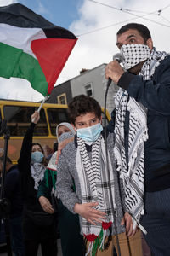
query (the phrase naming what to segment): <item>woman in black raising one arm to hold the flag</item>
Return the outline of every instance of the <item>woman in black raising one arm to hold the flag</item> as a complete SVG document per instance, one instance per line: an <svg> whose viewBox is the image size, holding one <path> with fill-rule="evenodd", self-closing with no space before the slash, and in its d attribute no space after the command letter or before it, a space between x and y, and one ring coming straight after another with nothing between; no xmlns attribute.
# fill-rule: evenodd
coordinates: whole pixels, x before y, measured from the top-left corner
<svg viewBox="0 0 170 256"><path fill-rule="evenodd" d="M36 256L41 244L43 256L57 255L56 217L42 210L37 201L37 189L46 170L42 146L32 143L33 131L40 115L37 111L31 115L31 125L26 131L18 167L24 200L24 239L26 256Z"/></svg>

